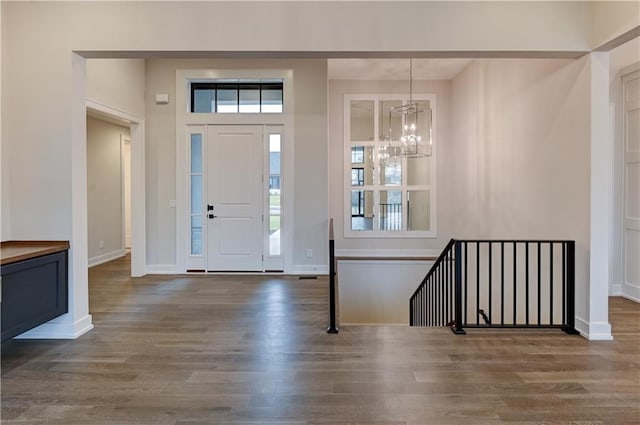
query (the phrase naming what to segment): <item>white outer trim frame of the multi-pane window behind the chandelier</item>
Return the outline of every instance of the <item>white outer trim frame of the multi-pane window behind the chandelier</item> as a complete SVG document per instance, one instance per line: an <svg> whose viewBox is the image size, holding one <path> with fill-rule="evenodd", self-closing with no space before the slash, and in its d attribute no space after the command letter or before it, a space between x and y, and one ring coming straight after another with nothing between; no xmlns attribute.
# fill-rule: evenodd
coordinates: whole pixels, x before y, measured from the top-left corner
<svg viewBox="0 0 640 425"><path fill-rule="evenodd" d="M412 98L414 101L420 100L428 100L432 110L432 153L431 153L431 174L430 174L430 184L425 185L425 188L429 190L429 205L430 205L430 230L428 231L380 231L380 230L370 230L370 231L355 231L351 230L351 101L352 100L371 100L374 101L374 141L366 142L366 141L358 141L359 146L376 146L379 145L379 128L380 128L380 114L379 114L379 101L380 100L398 100L398 99L408 99L408 93L400 93L400 94L345 94L344 102L343 102L343 147L344 147L344 207L343 207L343 217L344 217L344 237L345 238L363 238L363 239L414 239L414 238L437 238L437 213L438 213L438 205L437 205L437 182L436 182L436 169L437 169L437 146L438 146L438 135L437 135L437 96L433 93L420 93L413 94ZM375 149L374 149L375 150ZM376 185L377 186L377 185ZM407 186L400 186L402 190L406 190ZM419 188L422 188L420 186ZM367 189L365 189L367 190ZM394 190L393 186L389 186L389 190ZM374 190L374 205L377 205L377 193Z"/></svg>

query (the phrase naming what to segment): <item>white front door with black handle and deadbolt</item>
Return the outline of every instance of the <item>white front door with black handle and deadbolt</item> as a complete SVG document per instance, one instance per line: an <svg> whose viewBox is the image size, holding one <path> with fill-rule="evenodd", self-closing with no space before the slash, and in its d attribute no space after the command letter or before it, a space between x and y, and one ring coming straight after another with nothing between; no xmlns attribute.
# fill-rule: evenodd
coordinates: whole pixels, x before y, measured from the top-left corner
<svg viewBox="0 0 640 425"><path fill-rule="evenodd" d="M262 271L263 127L207 126L207 270Z"/></svg>

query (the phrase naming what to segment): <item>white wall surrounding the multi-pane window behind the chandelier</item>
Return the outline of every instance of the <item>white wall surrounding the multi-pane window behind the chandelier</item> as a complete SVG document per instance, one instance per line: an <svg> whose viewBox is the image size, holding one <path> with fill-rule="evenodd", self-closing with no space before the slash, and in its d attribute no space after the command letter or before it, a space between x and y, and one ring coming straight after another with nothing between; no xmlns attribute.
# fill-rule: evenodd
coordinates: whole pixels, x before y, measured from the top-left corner
<svg viewBox="0 0 640 425"><path fill-rule="evenodd" d="M344 95L408 93L407 81L329 81L329 210L334 218L336 250L376 250L386 255L393 251L422 252L437 255L454 236L451 185L455 176L449 166L454 161L451 144L451 84L449 81L413 82L414 93L437 96L437 238L345 238L344 237ZM383 254L384 255L384 254ZM402 255L402 254L400 254ZM405 254L406 255L406 254Z"/></svg>

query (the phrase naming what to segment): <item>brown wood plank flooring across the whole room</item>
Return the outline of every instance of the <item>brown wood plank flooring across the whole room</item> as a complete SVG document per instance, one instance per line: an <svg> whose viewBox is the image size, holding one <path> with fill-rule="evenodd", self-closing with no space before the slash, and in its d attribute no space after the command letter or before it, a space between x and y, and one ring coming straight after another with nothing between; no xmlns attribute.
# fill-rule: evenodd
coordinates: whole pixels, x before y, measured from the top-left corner
<svg viewBox="0 0 640 425"><path fill-rule="evenodd" d="M2 424L640 424L640 305L615 340L344 326L327 280L90 270L95 329L2 345Z"/></svg>

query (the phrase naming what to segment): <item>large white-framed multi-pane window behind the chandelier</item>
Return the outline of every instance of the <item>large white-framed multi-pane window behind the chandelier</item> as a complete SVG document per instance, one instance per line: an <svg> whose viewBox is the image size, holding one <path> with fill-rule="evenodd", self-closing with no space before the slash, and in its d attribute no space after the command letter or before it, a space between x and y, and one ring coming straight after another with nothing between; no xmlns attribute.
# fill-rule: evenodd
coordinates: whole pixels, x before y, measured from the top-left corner
<svg viewBox="0 0 640 425"><path fill-rule="evenodd" d="M390 153L390 109L408 94L344 95L344 236L434 238L436 227L437 98L413 94L430 111L430 155Z"/></svg>

